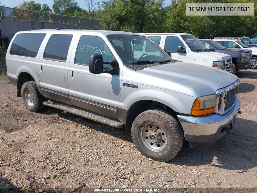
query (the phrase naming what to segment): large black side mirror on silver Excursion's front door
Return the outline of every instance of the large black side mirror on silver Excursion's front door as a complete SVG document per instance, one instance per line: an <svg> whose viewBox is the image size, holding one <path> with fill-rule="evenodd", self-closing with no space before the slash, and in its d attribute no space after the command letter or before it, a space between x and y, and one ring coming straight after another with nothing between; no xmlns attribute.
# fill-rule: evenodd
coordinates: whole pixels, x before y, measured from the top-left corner
<svg viewBox="0 0 257 193"><path fill-rule="evenodd" d="M113 68L104 71L104 64L110 64ZM120 67L114 58L110 62L104 62L101 54L93 54L89 58L89 72L92 74L110 73L112 75L120 75Z"/></svg>

